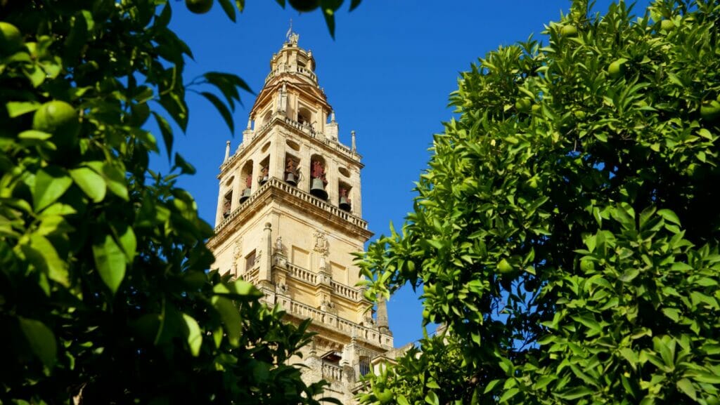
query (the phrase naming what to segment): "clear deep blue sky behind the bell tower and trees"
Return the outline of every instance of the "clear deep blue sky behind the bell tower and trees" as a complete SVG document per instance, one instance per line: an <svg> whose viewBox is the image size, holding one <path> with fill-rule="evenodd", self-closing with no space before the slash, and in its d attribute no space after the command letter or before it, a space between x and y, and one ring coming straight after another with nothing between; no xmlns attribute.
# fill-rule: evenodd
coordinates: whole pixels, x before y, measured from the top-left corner
<svg viewBox="0 0 720 405"><path fill-rule="evenodd" d="M171 26L192 48L194 61L186 68L186 82L206 71L238 74L259 92L269 73L271 55L282 46L292 18L301 47L310 49L316 73L336 110L341 142L357 133L364 218L376 234L398 227L412 209L413 182L426 168L433 133L452 117L448 96L457 88L459 72L468 70L490 50L526 40L542 39L544 24L557 21L570 8L569 0L420 1L364 0L348 13L349 1L336 16L336 39L328 34L320 12L299 14L275 1L247 0L246 10L233 23L220 5L210 13L188 12L172 1ZM610 1L600 0L604 12ZM640 4L647 4L641 1ZM635 10L643 14L643 9ZM243 94L244 108L235 110L236 126L245 127L252 94ZM241 139L225 127L220 114L199 96L188 95L189 128L177 135L175 150L197 168L180 186L197 199L200 215L214 225L218 167L225 141L233 151ZM162 159L166 162L166 159ZM163 167L161 159L156 167ZM403 288L389 305L395 345L422 337L420 301Z"/></svg>

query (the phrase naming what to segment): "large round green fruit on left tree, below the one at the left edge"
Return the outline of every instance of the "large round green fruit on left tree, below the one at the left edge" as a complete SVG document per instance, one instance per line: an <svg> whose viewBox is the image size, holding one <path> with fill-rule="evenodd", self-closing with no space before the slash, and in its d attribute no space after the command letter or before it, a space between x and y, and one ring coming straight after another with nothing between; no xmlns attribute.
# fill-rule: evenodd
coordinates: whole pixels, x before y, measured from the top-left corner
<svg viewBox="0 0 720 405"><path fill-rule="evenodd" d="M57 146L73 145L80 131L78 113L65 101L48 101L32 117L32 128L53 135Z"/></svg>

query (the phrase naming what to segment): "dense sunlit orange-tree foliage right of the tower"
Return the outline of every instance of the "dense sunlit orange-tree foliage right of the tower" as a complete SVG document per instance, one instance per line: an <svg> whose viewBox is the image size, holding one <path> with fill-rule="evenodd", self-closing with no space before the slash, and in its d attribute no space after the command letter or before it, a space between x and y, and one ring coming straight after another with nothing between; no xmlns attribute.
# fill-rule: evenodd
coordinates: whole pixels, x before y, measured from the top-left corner
<svg viewBox="0 0 720 405"><path fill-rule="evenodd" d="M714 0L637 19L576 0L549 45L462 74L414 212L361 263L366 296L422 285L446 334L372 386L397 404L720 403L719 22Z"/></svg>

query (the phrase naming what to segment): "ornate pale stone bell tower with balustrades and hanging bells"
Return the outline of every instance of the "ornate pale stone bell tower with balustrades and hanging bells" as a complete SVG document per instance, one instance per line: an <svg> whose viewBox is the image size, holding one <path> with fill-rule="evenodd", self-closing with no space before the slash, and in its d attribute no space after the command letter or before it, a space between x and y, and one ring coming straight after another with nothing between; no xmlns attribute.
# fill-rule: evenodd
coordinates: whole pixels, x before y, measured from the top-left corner
<svg viewBox="0 0 720 405"><path fill-rule="evenodd" d="M213 268L255 283L288 322L317 332L297 362L325 396L353 404L359 377L392 357L387 309L366 311L353 252L372 233L362 219L360 155L338 141L338 123L315 76L312 52L292 32L270 60L235 153L220 166Z"/></svg>

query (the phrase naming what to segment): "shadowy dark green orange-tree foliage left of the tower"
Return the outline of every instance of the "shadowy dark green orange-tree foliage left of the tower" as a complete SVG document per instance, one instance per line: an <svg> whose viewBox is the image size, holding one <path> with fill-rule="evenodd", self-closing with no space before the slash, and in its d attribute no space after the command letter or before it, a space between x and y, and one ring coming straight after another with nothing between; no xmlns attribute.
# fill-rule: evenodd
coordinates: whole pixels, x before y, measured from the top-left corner
<svg viewBox="0 0 720 405"><path fill-rule="evenodd" d="M148 120L171 157L166 117L189 119L192 53L168 29L172 9L0 2L1 404L317 403L323 383L286 364L307 323L283 324L251 284L207 273L212 228L176 186L194 168L178 154L166 176L148 168ZM232 129L246 83L193 83L217 88L202 94Z"/></svg>

